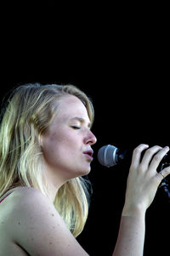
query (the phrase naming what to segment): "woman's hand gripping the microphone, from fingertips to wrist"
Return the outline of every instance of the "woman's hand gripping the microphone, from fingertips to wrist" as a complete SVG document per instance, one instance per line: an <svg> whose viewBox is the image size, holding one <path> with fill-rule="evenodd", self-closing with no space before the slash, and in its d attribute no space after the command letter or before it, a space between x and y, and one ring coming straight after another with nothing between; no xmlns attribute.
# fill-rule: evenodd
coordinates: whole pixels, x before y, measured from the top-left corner
<svg viewBox="0 0 170 256"><path fill-rule="evenodd" d="M170 174L170 167L164 168L161 173L156 171L169 148L167 146L161 148L158 145L147 149L148 147L141 144L133 151L122 215L132 216L137 210L145 213L156 196L157 188L164 179L163 176ZM144 150L146 151L141 160L141 153Z"/></svg>

